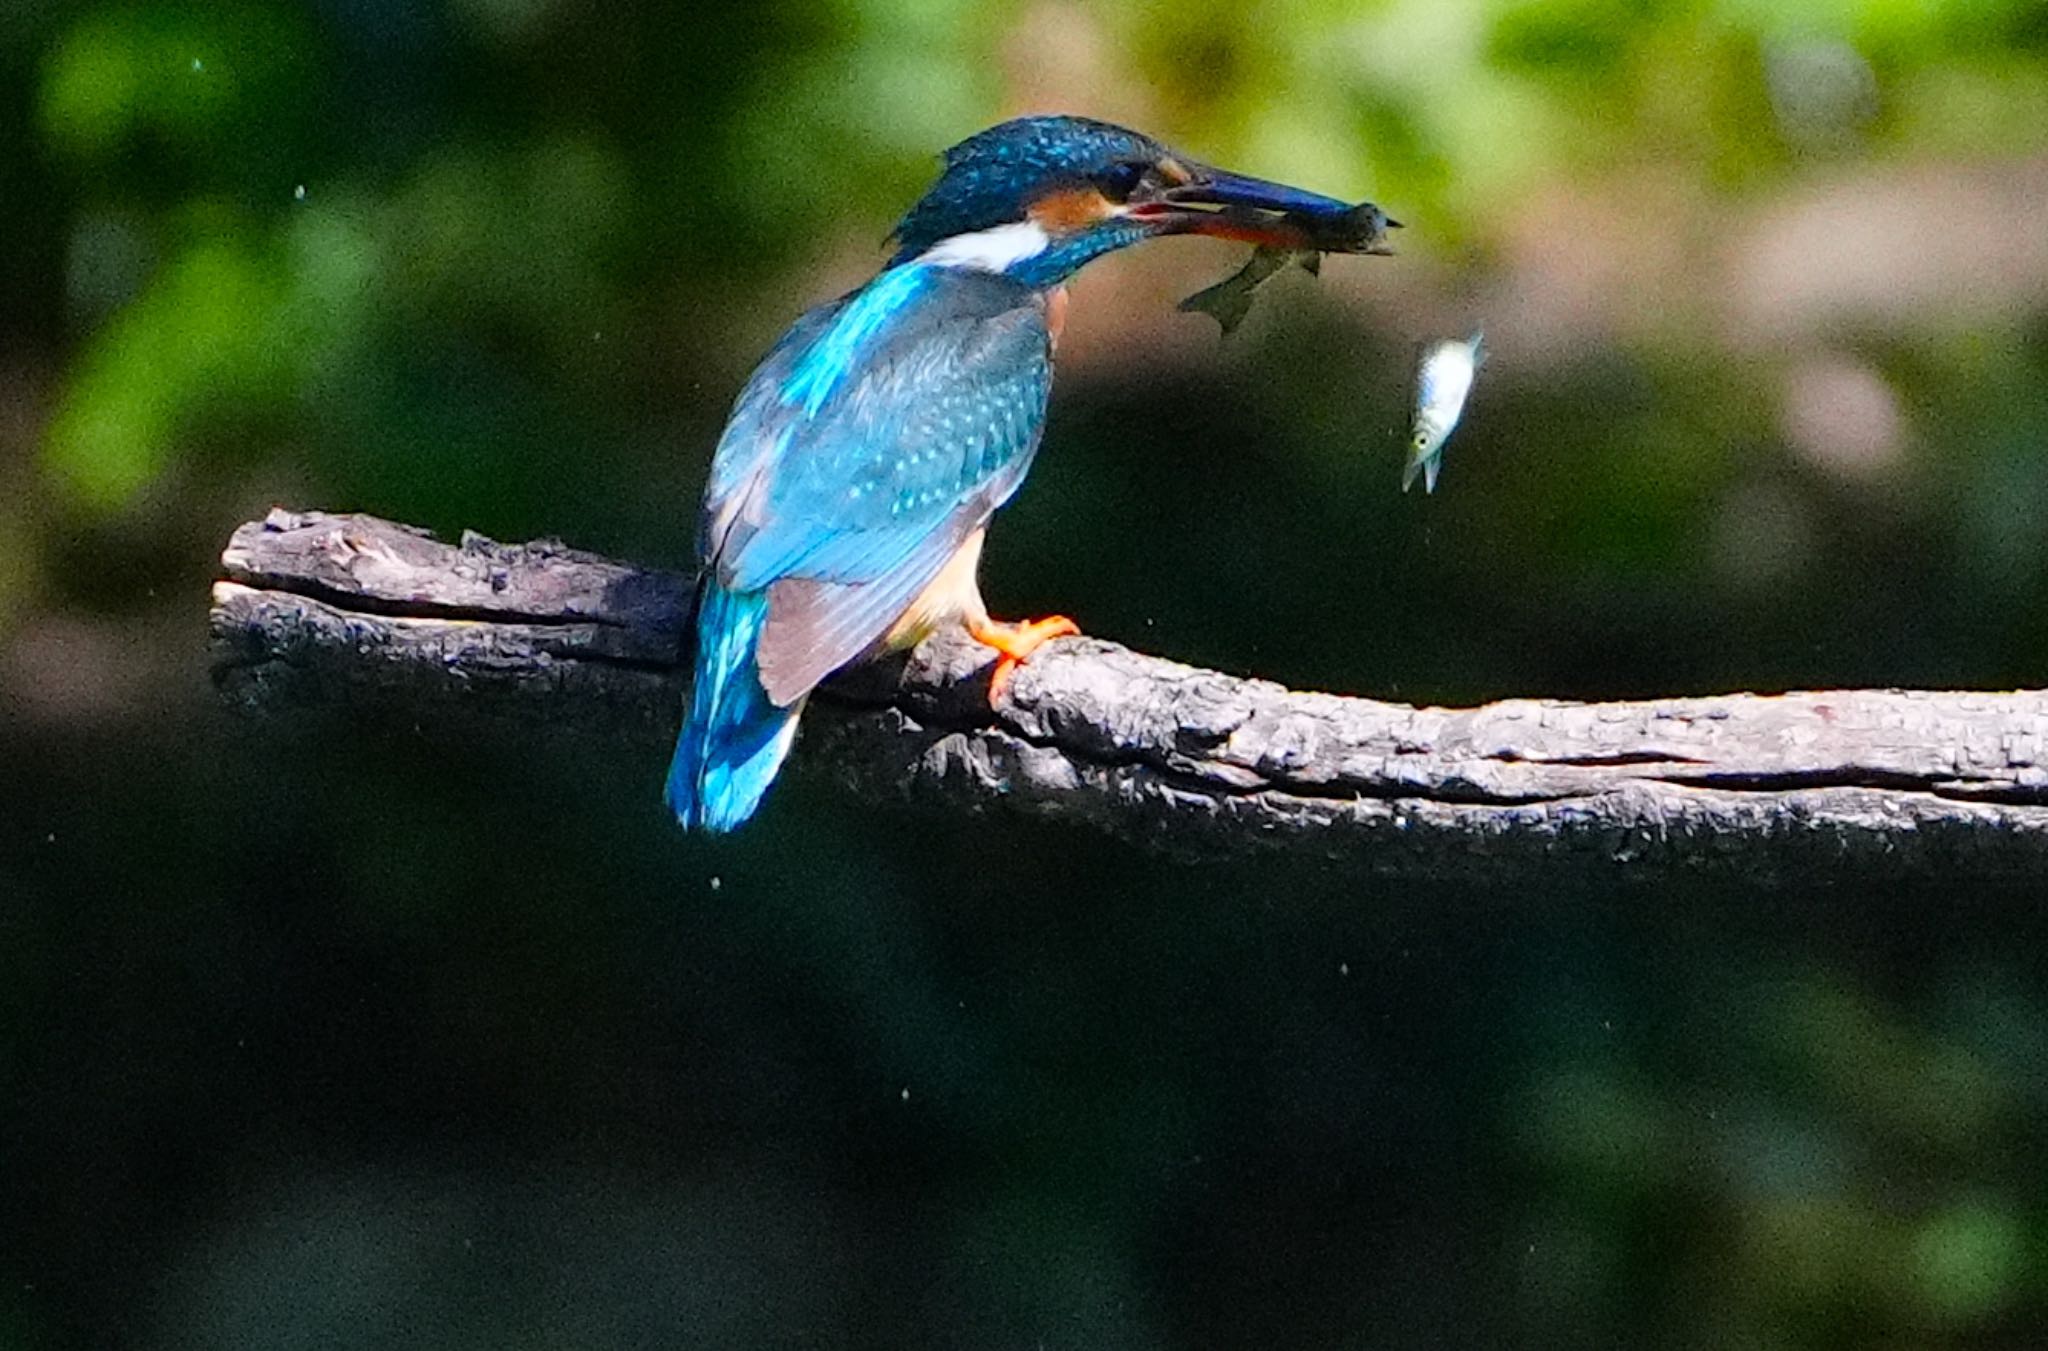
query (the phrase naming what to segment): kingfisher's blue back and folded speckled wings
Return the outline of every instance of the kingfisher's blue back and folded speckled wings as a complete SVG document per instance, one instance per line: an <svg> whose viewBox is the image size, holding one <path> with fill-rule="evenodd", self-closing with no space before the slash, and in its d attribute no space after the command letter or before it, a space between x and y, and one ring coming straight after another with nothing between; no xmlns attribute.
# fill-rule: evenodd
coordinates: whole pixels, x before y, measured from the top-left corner
<svg viewBox="0 0 2048 1351"><path fill-rule="evenodd" d="M770 354L713 467L707 567L770 592L776 702L879 641L1016 491L1051 381L1042 301L938 268L885 272Z"/></svg>

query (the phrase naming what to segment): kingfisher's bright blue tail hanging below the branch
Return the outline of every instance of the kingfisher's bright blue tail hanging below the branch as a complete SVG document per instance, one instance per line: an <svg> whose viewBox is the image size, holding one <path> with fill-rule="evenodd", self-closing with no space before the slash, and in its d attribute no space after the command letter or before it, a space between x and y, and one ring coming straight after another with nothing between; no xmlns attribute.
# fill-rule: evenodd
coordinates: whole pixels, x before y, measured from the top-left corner
<svg viewBox="0 0 2048 1351"><path fill-rule="evenodd" d="M696 602L690 716L668 764L666 798L686 827L723 833L752 817L797 735L803 704L776 706L754 665L766 624L766 592L705 583Z"/></svg>

